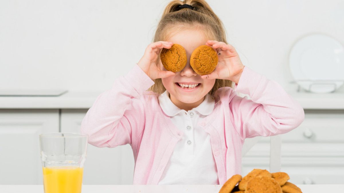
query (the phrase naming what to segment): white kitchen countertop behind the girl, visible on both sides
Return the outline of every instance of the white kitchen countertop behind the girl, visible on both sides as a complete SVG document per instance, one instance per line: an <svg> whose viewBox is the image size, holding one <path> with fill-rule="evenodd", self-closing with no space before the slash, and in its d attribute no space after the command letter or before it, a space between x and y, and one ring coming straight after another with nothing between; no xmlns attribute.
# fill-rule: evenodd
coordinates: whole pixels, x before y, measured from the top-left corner
<svg viewBox="0 0 344 193"><path fill-rule="evenodd" d="M61 96L0 96L0 109L89 109L103 91L68 91ZM333 93L297 92L295 87L286 92L303 109L344 110L344 87Z"/></svg>

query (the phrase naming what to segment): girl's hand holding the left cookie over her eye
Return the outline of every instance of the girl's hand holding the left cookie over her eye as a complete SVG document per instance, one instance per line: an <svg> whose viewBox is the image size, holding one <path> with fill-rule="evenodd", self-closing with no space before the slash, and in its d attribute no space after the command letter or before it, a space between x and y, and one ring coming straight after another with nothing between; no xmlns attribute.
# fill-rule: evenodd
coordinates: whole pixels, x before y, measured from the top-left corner
<svg viewBox="0 0 344 193"><path fill-rule="evenodd" d="M138 66L151 78L166 78L175 74L175 72L160 70L157 66L157 59L162 48L170 49L173 45L172 42L153 42L149 44L144 51L144 55L137 63Z"/></svg>

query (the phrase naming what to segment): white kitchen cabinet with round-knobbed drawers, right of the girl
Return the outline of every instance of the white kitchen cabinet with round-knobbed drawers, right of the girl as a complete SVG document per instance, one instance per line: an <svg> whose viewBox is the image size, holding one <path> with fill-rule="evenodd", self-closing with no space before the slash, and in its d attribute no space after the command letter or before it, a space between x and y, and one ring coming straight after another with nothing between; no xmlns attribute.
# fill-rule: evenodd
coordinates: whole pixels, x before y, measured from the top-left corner
<svg viewBox="0 0 344 193"><path fill-rule="evenodd" d="M344 184L344 111L306 110L298 128L280 135L281 171L296 184ZM242 174L269 169L269 137L243 157Z"/></svg>

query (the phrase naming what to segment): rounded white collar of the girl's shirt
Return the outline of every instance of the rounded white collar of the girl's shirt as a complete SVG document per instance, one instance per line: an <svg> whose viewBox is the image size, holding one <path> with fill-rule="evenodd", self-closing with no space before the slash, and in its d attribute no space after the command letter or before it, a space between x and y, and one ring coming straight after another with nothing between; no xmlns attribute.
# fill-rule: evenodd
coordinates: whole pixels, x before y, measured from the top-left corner
<svg viewBox="0 0 344 193"><path fill-rule="evenodd" d="M179 109L175 104L173 104L167 90L159 96L159 103L161 109L168 116L174 116L184 111L182 109ZM209 115L213 112L214 106L214 99L209 94L206 94L205 99L202 101L202 103L197 107L193 108L192 111L197 111L202 115Z"/></svg>

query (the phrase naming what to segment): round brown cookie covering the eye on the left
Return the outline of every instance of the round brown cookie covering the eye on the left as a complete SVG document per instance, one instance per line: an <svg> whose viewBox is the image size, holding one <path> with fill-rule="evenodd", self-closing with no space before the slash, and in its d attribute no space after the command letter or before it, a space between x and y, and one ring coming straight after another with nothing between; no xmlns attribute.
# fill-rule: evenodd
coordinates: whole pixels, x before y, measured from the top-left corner
<svg viewBox="0 0 344 193"><path fill-rule="evenodd" d="M173 44L170 49L162 48L160 59L166 70L178 72L181 71L186 65L186 51L183 46L179 44Z"/></svg>

